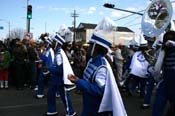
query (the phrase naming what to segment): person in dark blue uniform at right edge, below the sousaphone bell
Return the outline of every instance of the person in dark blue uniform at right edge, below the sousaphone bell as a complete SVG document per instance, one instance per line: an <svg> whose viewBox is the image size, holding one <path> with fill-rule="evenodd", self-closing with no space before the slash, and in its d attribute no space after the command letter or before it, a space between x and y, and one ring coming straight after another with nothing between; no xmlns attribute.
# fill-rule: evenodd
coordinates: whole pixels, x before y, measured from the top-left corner
<svg viewBox="0 0 175 116"><path fill-rule="evenodd" d="M163 46L159 54L158 63L162 69L163 79L158 83L152 116L163 116L164 109L169 102L166 116L175 115L175 31L168 31L163 36ZM164 53L164 54L163 54ZM162 60L159 60L162 59ZM156 66L154 67L157 71ZM160 72L160 71L159 71Z"/></svg>

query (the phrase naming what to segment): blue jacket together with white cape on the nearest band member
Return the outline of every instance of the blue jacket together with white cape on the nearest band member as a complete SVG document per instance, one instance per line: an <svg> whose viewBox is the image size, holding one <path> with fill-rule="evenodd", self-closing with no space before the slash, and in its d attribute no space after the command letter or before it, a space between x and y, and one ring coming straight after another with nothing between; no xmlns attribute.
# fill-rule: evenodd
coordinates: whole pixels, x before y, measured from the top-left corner
<svg viewBox="0 0 175 116"><path fill-rule="evenodd" d="M112 111L113 116L127 116L111 66L99 55L90 59L83 79L76 83L83 90L83 116Z"/></svg>

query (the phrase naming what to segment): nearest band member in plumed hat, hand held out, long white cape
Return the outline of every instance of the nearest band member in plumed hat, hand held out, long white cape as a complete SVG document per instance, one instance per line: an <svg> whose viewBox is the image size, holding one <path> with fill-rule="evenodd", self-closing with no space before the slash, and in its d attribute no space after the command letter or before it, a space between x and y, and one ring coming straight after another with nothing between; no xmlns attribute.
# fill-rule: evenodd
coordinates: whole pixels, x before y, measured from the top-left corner
<svg viewBox="0 0 175 116"><path fill-rule="evenodd" d="M91 58L84 70L83 79L75 75L68 77L83 91L81 116L127 116L111 66L105 58L111 42L99 33L94 33L89 44Z"/></svg>

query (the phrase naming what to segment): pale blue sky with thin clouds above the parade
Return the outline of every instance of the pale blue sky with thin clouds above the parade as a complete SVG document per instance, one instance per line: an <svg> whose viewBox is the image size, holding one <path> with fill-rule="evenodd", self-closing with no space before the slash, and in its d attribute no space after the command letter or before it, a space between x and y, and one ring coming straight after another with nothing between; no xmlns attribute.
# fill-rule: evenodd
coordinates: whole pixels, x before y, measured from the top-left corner
<svg viewBox="0 0 175 116"><path fill-rule="evenodd" d="M28 1L28 2L27 2ZM172 2L175 9L175 0ZM26 30L27 3L32 5L32 19L30 21L30 32L34 38L41 33L55 33L61 25L73 27L74 10L78 14L76 27L80 23L98 24L104 17L115 21L117 26L128 27L134 32L141 29L140 15L113 10L103 7L105 3L114 4L116 8L139 12L145 10L150 0L0 0L0 39L7 37L10 30ZM144 12L142 12L144 13ZM175 19L175 11L173 12Z"/></svg>

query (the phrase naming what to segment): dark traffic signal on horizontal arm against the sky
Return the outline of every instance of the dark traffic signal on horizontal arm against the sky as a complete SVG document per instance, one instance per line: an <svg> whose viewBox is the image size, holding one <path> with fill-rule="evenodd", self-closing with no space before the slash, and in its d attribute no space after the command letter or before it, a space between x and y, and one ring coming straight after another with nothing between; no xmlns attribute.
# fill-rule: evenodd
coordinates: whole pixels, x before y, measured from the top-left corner
<svg viewBox="0 0 175 116"><path fill-rule="evenodd" d="M130 11L130 10L115 8L114 4L105 3L103 6L106 7L106 8L111 8L111 9L120 10L120 11L129 12L129 13L133 13L133 14L138 14L138 15L143 15L142 13L139 13L139 12L134 12L134 11Z"/></svg>

